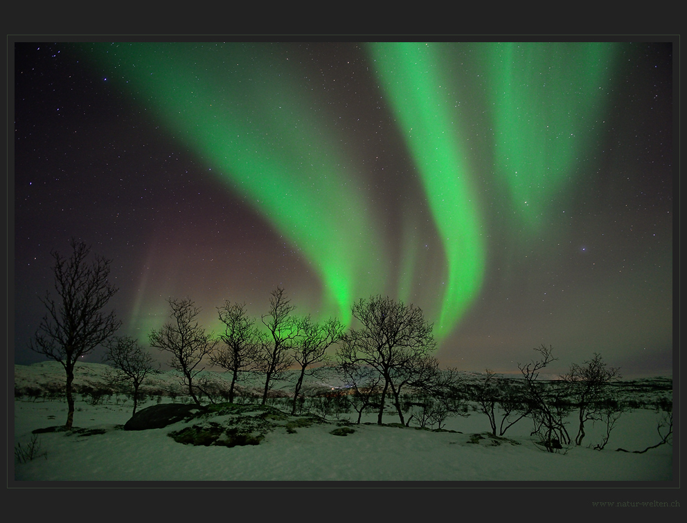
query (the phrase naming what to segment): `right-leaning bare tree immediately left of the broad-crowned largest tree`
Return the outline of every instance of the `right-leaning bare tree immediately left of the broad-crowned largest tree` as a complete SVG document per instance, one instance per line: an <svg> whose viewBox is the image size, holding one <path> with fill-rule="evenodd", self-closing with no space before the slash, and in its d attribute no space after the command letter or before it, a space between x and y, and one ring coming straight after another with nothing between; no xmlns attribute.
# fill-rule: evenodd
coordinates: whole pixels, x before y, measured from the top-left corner
<svg viewBox="0 0 687 523"><path fill-rule="evenodd" d="M312 365L323 363L327 360L327 349L334 345L334 343L339 342L343 336L343 324L334 318L319 324L313 322L310 316L306 316L298 320L298 323L298 330L301 332L301 336L298 336L294 342L293 358L301 367L301 371L298 374L296 388L294 389L292 414L296 414L298 394L303 386L303 378L307 373L312 373Z"/></svg>

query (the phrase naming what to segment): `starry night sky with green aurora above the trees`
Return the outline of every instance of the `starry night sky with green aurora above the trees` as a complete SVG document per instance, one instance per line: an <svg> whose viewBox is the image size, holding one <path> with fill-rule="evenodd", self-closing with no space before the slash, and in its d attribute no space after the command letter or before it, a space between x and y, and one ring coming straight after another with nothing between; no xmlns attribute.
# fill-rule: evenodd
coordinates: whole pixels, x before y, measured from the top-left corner
<svg viewBox="0 0 687 523"><path fill-rule="evenodd" d="M445 367L517 372L545 344L552 371L600 352L626 377L672 374L670 43L14 58L15 363L43 360L27 346L50 253L74 237L112 259L119 333L143 345L169 297L218 331L224 300L259 318L283 286L316 320L350 324L376 294L416 304Z"/></svg>

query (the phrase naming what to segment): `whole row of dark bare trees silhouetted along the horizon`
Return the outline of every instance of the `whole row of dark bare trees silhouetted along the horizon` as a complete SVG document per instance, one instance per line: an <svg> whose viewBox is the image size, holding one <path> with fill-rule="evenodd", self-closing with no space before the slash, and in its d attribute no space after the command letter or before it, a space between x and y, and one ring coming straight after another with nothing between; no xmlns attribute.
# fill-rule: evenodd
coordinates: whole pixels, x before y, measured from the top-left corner
<svg viewBox="0 0 687 523"><path fill-rule="evenodd" d="M99 345L106 349L106 361L116 369L115 379L130 383L136 412L139 388L147 376L158 371L152 356L139 342L115 336L121 321L105 308L117 288L108 280L111 261L93 257L91 248L71 241L69 258L51 253L55 264L55 293L42 298L46 315L39 324L30 348L62 364L66 373L64 392L68 405L65 427L72 428L74 414L74 366ZM468 404L485 414L494 436L503 436L522 419L533 423L532 435L549 452L560 452L571 444L582 445L587 423L605 423L606 434L596 448L602 450L623 412L610 387L620 378L618 369L607 367L599 354L582 365L573 364L556 380L539 378L557 358L553 348L535 349L538 358L518 364L520 378L497 378L487 370L478 380L467 380L456 369L439 369L433 352L436 341L432 324L422 309L400 300L373 295L352 306L354 328L345 331L335 318L315 322L309 315L298 316L296 307L281 287L271 292L267 313L260 324L249 317L245 304L226 300L217 307L223 330L217 336L199 324L200 309L193 300L170 298L170 319L150 332L150 347L170 355L168 365L179 371L182 383L197 405L200 394L211 398L206 383L198 379L206 363L224 369L231 376L226 400L232 403L237 384L246 373L264 379L261 402L286 371L296 369L291 414L305 403L305 376L327 369L335 371L345 384L320 396L318 408L357 414L376 412L382 424L386 405L398 415L400 425L411 421L425 428L441 429L448 416L467 415ZM334 356L330 348L335 347ZM294 373L291 373L294 375ZM577 433L568 432L569 417L576 412ZM659 435L665 443L672 434L672 418ZM659 443L661 444L661 443Z"/></svg>

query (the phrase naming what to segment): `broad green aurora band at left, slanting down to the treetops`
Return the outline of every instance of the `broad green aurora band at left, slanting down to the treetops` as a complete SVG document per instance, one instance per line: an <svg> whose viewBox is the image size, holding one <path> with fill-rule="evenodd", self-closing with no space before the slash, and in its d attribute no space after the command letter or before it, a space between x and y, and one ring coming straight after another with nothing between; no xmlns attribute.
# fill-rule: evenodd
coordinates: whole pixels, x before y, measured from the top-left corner
<svg viewBox="0 0 687 523"><path fill-rule="evenodd" d="M93 46L124 89L151 107L232 191L247 196L304 253L322 286L321 316L345 324L350 307L386 282L385 254L355 165L323 136L326 122L267 53L242 45ZM122 65L127 64L127 65ZM305 108L305 109L304 109Z"/></svg>

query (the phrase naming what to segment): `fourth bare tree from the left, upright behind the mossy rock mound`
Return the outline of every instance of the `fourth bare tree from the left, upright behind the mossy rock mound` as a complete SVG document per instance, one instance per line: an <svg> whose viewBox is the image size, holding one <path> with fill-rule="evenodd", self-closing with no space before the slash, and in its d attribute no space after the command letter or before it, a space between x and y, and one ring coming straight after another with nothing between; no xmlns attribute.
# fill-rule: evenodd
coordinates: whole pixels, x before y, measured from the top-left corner
<svg viewBox="0 0 687 523"><path fill-rule="evenodd" d="M220 334L224 345L213 351L210 360L213 365L231 372L229 403L233 403L235 384L242 372L255 365L262 337L255 327L255 320L248 317L245 304L225 301L217 311L224 324L224 333Z"/></svg>

